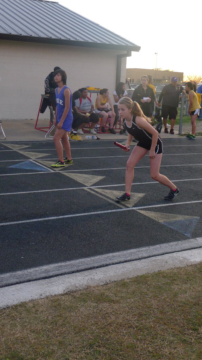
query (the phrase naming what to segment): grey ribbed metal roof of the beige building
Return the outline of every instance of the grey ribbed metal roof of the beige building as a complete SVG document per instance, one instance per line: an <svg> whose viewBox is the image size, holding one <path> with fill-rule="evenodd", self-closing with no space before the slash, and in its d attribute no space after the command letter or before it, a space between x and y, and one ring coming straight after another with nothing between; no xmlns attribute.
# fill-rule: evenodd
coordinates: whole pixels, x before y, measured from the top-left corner
<svg viewBox="0 0 202 360"><path fill-rule="evenodd" d="M54 14L60 14L60 22ZM139 51L140 46L54 1L0 0L0 39Z"/></svg>

